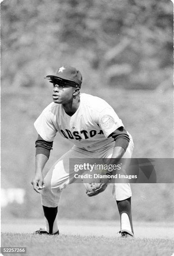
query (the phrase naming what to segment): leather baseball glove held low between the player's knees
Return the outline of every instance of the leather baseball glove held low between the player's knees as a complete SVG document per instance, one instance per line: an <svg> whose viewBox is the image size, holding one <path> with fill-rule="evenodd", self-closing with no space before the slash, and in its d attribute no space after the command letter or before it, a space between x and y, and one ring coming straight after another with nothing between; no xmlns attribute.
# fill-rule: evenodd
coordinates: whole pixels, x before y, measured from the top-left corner
<svg viewBox="0 0 174 256"><path fill-rule="evenodd" d="M101 177L93 179L91 183L83 183L88 197L98 195L106 189L108 183L110 182L110 178L107 177L108 174L109 173L105 173L104 175L101 175Z"/></svg>

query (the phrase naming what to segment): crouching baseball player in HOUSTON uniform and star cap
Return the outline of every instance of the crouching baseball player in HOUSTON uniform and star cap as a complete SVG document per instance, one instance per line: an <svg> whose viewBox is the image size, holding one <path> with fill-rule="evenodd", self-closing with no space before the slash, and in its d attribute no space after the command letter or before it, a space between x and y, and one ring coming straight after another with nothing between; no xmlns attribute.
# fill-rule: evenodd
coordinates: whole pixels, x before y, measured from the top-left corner
<svg viewBox="0 0 174 256"><path fill-rule="evenodd" d="M58 203L62 190L74 182L69 158L131 158L134 143L131 135L113 108L103 99L80 93L82 75L74 67L60 67L55 75L46 77L53 85L53 102L34 123L38 132L35 142L35 176L33 188L41 193L45 227L37 234L59 234L57 225ZM71 141L73 147L58 159L43 179L43 168L48 161L53 140L59 132ZM95 190L95 189L93 189ZM103 191L96 188L95 195ZM133 237L131 218L131 187L129 183L112 184L120 220L121 237Z"/></svg>

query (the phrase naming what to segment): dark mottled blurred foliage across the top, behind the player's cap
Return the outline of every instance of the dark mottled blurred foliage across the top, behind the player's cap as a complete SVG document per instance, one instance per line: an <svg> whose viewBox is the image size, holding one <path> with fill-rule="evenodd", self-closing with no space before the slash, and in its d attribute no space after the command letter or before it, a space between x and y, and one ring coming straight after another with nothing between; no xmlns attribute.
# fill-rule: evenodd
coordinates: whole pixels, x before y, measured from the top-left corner
<svg viewBox="0 0 174 256"><path fill-rule="evenodd" d="M1 78L13 88L43 86L38 77L75 61L91 83L165 90L173 84L173 5L170 0L4 0L1 51Z"/></svg>

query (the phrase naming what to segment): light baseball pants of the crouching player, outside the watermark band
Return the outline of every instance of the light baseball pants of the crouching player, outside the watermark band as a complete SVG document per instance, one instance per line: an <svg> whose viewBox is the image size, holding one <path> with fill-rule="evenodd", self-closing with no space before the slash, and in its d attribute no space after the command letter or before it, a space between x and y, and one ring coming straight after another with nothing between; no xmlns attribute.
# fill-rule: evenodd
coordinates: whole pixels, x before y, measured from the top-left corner
<svg viewBox="0 0 174 256"><path fill-rule="evenodd" d="M61 156L52 166L44 179L45 188L41 192L42 205L46 207L57 207L62 190L74 182L74 170L69 169L69 158L111 158L115 142L101 148L98 151L90 152L73 146L66 154ZM134 143L131 140L123 158L131 158L134 150ZM78 161L79 162L79 161ZM112 194L115 200L125 200L131 197L129 183L115 183L112 185Z"/></svg>

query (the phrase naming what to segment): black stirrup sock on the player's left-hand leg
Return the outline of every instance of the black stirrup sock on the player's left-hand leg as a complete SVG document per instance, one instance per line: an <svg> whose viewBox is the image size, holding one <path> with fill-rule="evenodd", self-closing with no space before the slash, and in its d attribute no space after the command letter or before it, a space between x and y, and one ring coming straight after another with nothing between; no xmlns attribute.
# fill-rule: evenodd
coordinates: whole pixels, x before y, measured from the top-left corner
<svg viewBox="0 0 174 256"><path fill-rule="evenodd" d="M46 207L43 205L43 212L49 224L49 234L53 234L53 224L58 213L58 207Z"/></svg>

